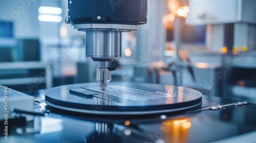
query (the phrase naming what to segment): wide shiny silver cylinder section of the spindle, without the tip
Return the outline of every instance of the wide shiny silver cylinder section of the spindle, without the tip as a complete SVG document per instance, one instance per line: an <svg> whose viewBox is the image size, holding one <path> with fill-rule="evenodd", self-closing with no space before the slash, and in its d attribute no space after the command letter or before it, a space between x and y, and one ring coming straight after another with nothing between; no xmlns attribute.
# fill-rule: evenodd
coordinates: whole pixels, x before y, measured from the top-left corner
<svg viewBox="0 0 256 143"><path fill-rule="evenodd" d="M98 58L121 57L121 31L87 31L86 56Z"/></svg>

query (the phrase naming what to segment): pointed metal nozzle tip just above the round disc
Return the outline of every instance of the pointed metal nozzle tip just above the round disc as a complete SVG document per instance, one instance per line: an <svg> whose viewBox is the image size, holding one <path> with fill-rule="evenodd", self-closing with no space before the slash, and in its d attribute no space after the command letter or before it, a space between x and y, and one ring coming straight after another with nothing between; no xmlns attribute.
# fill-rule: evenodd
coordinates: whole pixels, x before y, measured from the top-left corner
<svg viewBox="0 0 256 143"><path fill-rule="evenodd" d="M111 73L108 68L96 69L96 81L99 83L101 91L105 91L106 83L111 81Z"/></svg>

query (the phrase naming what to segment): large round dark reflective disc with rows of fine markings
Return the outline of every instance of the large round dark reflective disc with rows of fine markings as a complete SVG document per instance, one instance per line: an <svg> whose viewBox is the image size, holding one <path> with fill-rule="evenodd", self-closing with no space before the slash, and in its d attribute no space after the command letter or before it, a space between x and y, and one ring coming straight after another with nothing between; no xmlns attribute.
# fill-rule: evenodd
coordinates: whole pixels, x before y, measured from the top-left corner
<svg viewBox="0 0 256 143"><path fill-rule="evenodd" d="M81 113L159 114L200 107L202 93L181 86L122 82L111 82L101 92L98 83L82 83L48 89L45 102L58 109Z"/></svg>

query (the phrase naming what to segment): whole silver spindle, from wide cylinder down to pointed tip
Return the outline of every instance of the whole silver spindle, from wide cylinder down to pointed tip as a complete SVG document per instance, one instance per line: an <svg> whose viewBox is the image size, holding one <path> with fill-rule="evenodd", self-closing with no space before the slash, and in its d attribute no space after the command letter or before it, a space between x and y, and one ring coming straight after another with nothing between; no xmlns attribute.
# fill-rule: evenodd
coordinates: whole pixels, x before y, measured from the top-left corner
<svg viewBox="0 0 256 143"><path fill-rule="evenodd" d="M96 81L100 89L106 89L106 83L111 80L111 71L108 69L109 61L121 57L121 31L91 30L86 32L86 56L99 61L96 69Z"/></svg>

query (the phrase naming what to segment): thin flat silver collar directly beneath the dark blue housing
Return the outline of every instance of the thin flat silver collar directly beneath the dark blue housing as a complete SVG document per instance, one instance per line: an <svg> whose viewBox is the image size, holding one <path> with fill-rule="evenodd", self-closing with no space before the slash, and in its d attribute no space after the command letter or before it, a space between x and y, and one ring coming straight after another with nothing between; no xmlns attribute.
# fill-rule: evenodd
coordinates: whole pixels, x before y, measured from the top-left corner
<svg viewBox="0 0 256 143"><path fill-rule="evenodd" d="M130 32L131 30L137 30L136 25L117 25L117 24L101 24L101 23L87 23L74 25L74 29L78 31L88 31L92 29L111 29L111 30L122 30L125 32Z"/></svg>

